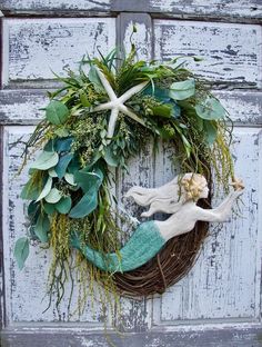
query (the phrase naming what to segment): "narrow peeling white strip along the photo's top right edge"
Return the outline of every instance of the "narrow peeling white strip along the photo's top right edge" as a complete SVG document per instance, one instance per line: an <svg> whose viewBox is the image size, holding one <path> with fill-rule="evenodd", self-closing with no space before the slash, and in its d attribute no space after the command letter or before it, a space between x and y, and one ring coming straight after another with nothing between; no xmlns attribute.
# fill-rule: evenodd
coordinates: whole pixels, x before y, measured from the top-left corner
<svg viewBox="0 0 262 347"><path fill-rule="evenodd" d="M150 0L150 10L171 14L261 17L260 0Z"/></svg>

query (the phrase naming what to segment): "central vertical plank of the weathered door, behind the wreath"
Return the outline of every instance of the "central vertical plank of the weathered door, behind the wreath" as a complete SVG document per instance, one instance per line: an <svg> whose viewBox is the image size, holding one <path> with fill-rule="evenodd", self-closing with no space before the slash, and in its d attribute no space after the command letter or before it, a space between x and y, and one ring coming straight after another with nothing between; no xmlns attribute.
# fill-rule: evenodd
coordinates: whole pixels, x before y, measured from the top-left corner
<svg viewBox="0 0 262 347"><path fill-rule="evenodd" d="M148 14L141 13L121 13L118 18L119 44L125 52L131 49L130 37L133 31L133 26L137 32L132 36L132 42L138 48L137 59L151 59L151 18ZM153 186L153 152L150 143L144 150L141 150L137 158L129 160L129 174L119 172L117 187L118 199L123 205L124 209L131 215L139 218L142 212L141 207L138 207L131 199L125 199L124 194L132 186ZM130 235L131 230L127 230ZM150 324L150 300L121 299L121 321L122 327L127 331L143 331ZM119 323L117 323L119 324Z"/></svg>

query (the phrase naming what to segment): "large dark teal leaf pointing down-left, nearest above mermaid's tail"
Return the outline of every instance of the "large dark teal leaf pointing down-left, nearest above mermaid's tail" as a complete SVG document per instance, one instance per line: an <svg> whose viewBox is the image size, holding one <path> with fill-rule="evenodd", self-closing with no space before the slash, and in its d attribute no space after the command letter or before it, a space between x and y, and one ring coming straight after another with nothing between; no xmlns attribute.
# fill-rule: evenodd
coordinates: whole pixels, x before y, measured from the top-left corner
<svg viewBox="0 0 262 347"><path fill-rule="evenodd" d="M71 209L69 217L83 218L90 215L98 206L98 192L93 190L85 194L82 199Z"/></svg>

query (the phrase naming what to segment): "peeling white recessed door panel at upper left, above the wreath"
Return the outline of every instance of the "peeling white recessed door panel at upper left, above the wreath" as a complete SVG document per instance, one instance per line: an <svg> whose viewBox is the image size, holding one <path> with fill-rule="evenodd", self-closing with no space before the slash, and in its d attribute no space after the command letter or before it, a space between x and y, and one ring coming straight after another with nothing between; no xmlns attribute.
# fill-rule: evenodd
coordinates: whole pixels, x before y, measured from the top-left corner
<svg viewBox="0 0 262 347"><path fill-rule="evenodd" d="M110 34L109 34L110 32ZM115 47L113 18L4 19L3 82L53 79L81 58ZM63 72L64 75L64 72Z"/></svg>

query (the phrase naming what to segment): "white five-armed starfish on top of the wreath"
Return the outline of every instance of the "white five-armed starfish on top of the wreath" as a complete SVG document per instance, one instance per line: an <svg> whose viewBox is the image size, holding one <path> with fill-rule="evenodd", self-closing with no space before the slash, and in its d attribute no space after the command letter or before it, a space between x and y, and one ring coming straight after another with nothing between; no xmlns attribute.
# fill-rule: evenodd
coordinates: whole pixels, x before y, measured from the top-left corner
<svg viewBox="0 0 262 347"><path fill-rule="evenodd" d="M110 86L109 81L104 77L104 75L98 69L97 72L99 75L99 78L103 85L103 88L105 89L110 101L105 103L101 103L97 106L93 111L103 111L103 110L111 110L110 119L109 119L109 127L108 127L108 138L111 139L114 133L115 123L118 120L119 112L129 116L133 120L138 121L141 125L145 125L144 121L139 118L135 113L133 113L125 105L124 102L128 101L132 96L140 92L147 85L148 81L142 82L135 87L130 88L128 91L125 91L121 97L117 97L114 90Z"/></svg>

